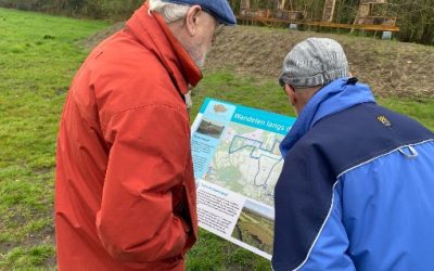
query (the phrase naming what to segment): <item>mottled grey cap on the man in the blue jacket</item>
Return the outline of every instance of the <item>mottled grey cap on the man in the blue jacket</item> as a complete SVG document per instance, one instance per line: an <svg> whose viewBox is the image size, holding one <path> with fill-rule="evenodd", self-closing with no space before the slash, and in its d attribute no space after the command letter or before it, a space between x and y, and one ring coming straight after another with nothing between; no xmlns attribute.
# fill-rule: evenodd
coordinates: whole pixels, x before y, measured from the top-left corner
<svg viewBox="0 0 434 271"><path fill-rule="evenodd" d="M296 44L283 61L280 86L310 88L348 75L344 50L335 40L308 38Z"/></svg>

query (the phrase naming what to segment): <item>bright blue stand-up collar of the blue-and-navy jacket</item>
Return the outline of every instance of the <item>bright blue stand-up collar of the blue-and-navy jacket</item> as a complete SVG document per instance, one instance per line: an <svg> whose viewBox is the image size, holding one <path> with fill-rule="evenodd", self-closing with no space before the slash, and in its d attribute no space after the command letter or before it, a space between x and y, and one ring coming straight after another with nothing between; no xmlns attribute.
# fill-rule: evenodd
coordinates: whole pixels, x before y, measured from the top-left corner
<svg viewBox="0 0 434 271"><path fill-rule="evenodd" d="M354 79L353 79L354 80ZM350 83L348 78L332 81L320 89L306 104L294 126L280 144L282 156L321 119L360 103L375 102L370 88Z"/></svg>

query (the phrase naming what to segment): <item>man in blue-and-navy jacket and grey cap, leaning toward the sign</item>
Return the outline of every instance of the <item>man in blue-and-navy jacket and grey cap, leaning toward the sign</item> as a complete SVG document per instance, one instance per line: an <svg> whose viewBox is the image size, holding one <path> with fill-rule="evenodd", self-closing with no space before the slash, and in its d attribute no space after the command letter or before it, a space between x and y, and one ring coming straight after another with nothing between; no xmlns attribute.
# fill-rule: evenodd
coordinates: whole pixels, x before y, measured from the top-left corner
<svg viewBox="0 0 434 271"><path fill-rule="evenodd" d="M295 46L279 81L298 119L281 144L273 269L434 270L434 134L379 106L334 40Z"/></svg>

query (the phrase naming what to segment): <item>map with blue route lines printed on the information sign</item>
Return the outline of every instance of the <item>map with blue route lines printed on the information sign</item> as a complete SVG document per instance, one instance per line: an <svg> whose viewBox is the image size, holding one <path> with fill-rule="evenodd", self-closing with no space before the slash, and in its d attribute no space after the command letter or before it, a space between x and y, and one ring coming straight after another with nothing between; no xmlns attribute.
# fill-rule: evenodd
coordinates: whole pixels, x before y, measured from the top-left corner
<svg viewBox="0 0 434 271"><path fill-rule="evenodd" d="M275 132L230 124L204 180L273 206L273 190L283 166L282 139Z"/></svg>

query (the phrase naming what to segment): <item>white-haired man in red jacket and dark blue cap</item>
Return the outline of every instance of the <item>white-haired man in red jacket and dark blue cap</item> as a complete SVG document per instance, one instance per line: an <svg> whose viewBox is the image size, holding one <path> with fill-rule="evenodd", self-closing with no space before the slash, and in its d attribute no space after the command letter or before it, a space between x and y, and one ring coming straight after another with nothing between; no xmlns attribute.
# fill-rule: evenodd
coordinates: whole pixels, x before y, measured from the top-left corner
<svg viewBox="0 0 434 271"><path fill-rule="evenodd" d="M227 0L150 0L78 70L58 141L59 269L183 270L197 235L184 95Z"/></svg>

